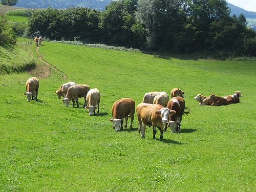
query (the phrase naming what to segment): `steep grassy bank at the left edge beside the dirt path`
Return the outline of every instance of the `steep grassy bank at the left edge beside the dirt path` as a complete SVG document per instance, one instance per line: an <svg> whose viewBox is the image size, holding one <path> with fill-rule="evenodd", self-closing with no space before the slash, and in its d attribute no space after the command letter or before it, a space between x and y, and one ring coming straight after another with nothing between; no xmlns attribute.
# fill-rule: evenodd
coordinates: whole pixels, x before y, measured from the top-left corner
<svg viewBox="0 0 256 192"><path fill-rule="evenodd" d="M35 67L31 41L22 40L14 47L0 46L0 74L23 72Z"/></svg>

